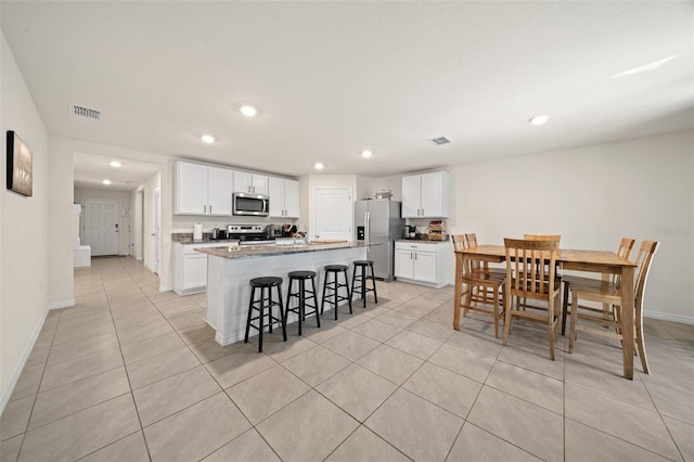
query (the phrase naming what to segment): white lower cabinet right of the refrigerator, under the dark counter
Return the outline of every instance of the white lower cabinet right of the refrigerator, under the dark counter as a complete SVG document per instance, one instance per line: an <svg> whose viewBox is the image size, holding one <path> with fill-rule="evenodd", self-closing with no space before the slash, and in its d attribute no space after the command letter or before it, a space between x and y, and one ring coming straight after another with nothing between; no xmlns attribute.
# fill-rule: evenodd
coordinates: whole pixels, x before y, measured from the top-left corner
<svg viewBox="0 0 694 462"><path fill-rule="evenodd" d="M442 287L452 283L453 248L440 243L395 243L395 277L398 280Z"/></svg>

